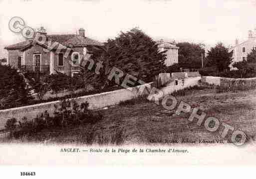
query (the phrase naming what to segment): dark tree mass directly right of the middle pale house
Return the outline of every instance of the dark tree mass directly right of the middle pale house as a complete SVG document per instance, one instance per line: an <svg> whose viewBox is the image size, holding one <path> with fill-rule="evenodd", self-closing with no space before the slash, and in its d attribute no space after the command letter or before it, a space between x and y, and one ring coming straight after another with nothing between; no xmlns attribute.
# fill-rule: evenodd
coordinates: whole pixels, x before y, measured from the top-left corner
<svg viewBox="0 0 256 179"><path fill-rule="evenodd" d="M189 43L180 42L176 46L180 47L179 54L179 67L180 68L201 68L202 67L202 54L205 58L205 45L202 43Z"/></svg>

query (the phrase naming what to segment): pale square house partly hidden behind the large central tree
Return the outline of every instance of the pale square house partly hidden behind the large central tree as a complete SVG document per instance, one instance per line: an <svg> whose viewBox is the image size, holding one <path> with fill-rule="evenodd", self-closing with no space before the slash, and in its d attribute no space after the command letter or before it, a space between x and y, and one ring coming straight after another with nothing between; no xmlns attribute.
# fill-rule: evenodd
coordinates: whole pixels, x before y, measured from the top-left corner
<svg viewBox="0 0 256 179"><path fill-rule="evenodd" d="M158 48L160 52L166 51L166 60L165 65L171 66L175 63L178 63L178 50L179 47L176 46L174 42L166 42L163 39L157 41Z"/></svg>

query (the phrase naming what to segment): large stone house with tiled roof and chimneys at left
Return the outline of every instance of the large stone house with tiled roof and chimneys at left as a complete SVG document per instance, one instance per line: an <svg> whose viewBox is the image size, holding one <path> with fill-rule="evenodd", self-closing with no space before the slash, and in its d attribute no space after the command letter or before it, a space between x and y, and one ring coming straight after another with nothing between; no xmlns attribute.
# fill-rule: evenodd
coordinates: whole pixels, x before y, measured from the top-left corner
<svg viewBox="0 0 256 179"><path fill-rule="evenodd" d="M79 71L78 57L89 53L93 46L102 45L86 37L83 28L78 34L48 35L41 27L34 39L26 39L4 49L8 51L7 64L19 70L50 74L59 71L73 76ZM76 60L70 63L73 59Z"/></svg>

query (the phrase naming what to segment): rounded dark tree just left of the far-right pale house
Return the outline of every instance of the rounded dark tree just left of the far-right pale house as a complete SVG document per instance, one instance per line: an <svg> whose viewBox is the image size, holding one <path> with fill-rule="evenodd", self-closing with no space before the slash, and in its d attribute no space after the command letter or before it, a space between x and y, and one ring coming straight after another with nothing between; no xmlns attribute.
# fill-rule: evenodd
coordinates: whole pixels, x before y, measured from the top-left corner
<svg viewBox="0 0 256 179"><path fill-rule="evenodd" d="M207 54L208 66L216 66L220 72L230 68L233 51L229 52L229 49L223 43L216 44Z"/></svg>

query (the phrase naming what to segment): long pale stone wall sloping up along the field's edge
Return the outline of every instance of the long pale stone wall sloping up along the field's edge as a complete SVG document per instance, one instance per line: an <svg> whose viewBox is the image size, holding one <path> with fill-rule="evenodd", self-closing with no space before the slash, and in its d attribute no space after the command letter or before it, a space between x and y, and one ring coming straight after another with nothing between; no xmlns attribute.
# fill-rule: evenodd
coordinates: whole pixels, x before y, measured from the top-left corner
<svg viewBox="0 0 256 179"><path fill-rule="evenodd" d="M201 77L195 78L187 78L184 80L184 84L182 84L182 80L179 82L178 85L174 86L174 84L170 84L167 88L164 88L164 94L170 94L174 90L179 90L188 86L194 86L198 83ZM83 102L89 103L89 109L96 110L102 109L107 106L112 106L119 104L121 101L126 101L132 98L138 97L138 95L147 94L146 86L151 86L153 83L141 85L138 87L128 88L128 89L121 89L116 91L110 91L100 94L93 94L88 96L81 96L75 98L74 100L80 105ZM140 92L138 92L140 89ZM141 93L141 92L144 93ZM170 92L170 93L169 93ZM30 106L23 106L18 108L11 108L0 110L0 130L4 128L4 125L7 119L16 118L17 120L22 119L22 117L27 117L27 119L35 118L36 115L39 115L47 110L47 112L52 115L54 113L54 105L59 105L60 101L52 101L47 103L40 103Z"/></svg>

